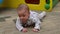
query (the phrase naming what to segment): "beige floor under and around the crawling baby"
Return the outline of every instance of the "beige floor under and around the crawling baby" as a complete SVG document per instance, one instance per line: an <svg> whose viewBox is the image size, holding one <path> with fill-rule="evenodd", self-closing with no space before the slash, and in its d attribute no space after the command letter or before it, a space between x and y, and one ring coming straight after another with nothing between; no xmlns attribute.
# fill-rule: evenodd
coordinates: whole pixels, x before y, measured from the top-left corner
<svg viewBox="0 0 60 34"><path fill-rule="evenodd" d="M16 10L5 10L0 13L0 34L60 34L60 2L52 12L47 12L39 32L32 32L32 28L28 28L26 33L19 32L13 21L16 17Z"/></svg>

